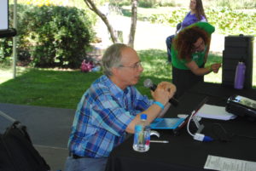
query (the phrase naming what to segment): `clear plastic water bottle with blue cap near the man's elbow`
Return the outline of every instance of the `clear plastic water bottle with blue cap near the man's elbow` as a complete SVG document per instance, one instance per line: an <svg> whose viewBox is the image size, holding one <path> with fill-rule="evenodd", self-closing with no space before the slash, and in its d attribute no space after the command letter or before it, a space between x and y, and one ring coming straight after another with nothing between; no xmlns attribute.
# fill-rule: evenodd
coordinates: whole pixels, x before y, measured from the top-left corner
<svg viewBox="0 0 256 171"><path fill-rule="evenodd" d="M147 115L141 115L141 121L135 126L133 149L139 152L149 150L150 127L147 123Z"/></svg>

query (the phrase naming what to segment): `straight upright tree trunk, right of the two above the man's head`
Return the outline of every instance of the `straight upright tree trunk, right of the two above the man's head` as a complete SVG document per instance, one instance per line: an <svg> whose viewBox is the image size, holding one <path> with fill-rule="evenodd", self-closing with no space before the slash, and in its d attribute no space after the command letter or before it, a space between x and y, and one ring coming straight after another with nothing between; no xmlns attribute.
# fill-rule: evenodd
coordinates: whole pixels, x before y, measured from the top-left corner
<svg viewBox="0 0 256 171"><path fill-rule="evenodd" d="M131 4L131 29L128 43L128 45L131 46L131 48L134 47L134 37L137 26L137 1L138 0L132 0Z"/></svg>

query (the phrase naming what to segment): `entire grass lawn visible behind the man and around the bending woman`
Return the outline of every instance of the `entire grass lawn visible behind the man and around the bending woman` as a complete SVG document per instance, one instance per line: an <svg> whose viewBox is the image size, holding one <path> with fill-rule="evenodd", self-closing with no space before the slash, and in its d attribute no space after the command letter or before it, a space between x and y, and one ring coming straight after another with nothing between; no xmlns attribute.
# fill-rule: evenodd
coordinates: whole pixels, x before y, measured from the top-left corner
<svg viewBox="0 0 256 171"><path fill-rule="evenodd" d="M143 61L143 75L137 84L142 94L150 95L143 81L150 78L154 83L172 82L171 65L166 63L166 51L148 49L138 51ZM210 55L208 64L221 62L219 56ZM207 64L207 65L208 65ZM1 76L3 76L3 72ZM102 72L58 71L43 69L26 69L15 79L0 84L0 102L20 105L42 105L75 109L84 91L100 77ZM206 80L221 82L221 71L207 75ZM254 79L255 80L255 79ZM255 85L255 84L254 84Z"/></svg>

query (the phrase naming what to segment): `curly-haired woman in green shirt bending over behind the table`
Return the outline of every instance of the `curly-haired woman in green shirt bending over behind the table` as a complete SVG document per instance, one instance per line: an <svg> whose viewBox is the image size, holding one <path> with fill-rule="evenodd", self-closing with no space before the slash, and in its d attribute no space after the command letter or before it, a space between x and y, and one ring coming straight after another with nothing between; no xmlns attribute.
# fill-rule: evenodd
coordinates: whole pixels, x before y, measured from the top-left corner
<svg viewBox="0 0 256 171"><path fill-rule="evenodd" d="M198 22L180 31L172 46L172 83L177 87L177 98L196 83L203 82L204 75L217 73L221 64L205 67L215 28L207 22Z"/></svg>

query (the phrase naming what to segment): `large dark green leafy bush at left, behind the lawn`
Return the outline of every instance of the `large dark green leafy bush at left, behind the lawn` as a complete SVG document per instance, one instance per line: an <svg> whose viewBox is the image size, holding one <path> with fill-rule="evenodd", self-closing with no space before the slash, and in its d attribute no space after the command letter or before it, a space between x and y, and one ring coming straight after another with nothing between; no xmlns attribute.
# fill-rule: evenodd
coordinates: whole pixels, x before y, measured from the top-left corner
<svg viewBox="0 0 256 171"><path fill-rule="evenodd" d="M95 35L84 11L26 5L18 5L17 11L18 59L31 58L32 65L37 67L80 66Z"/></svg>

